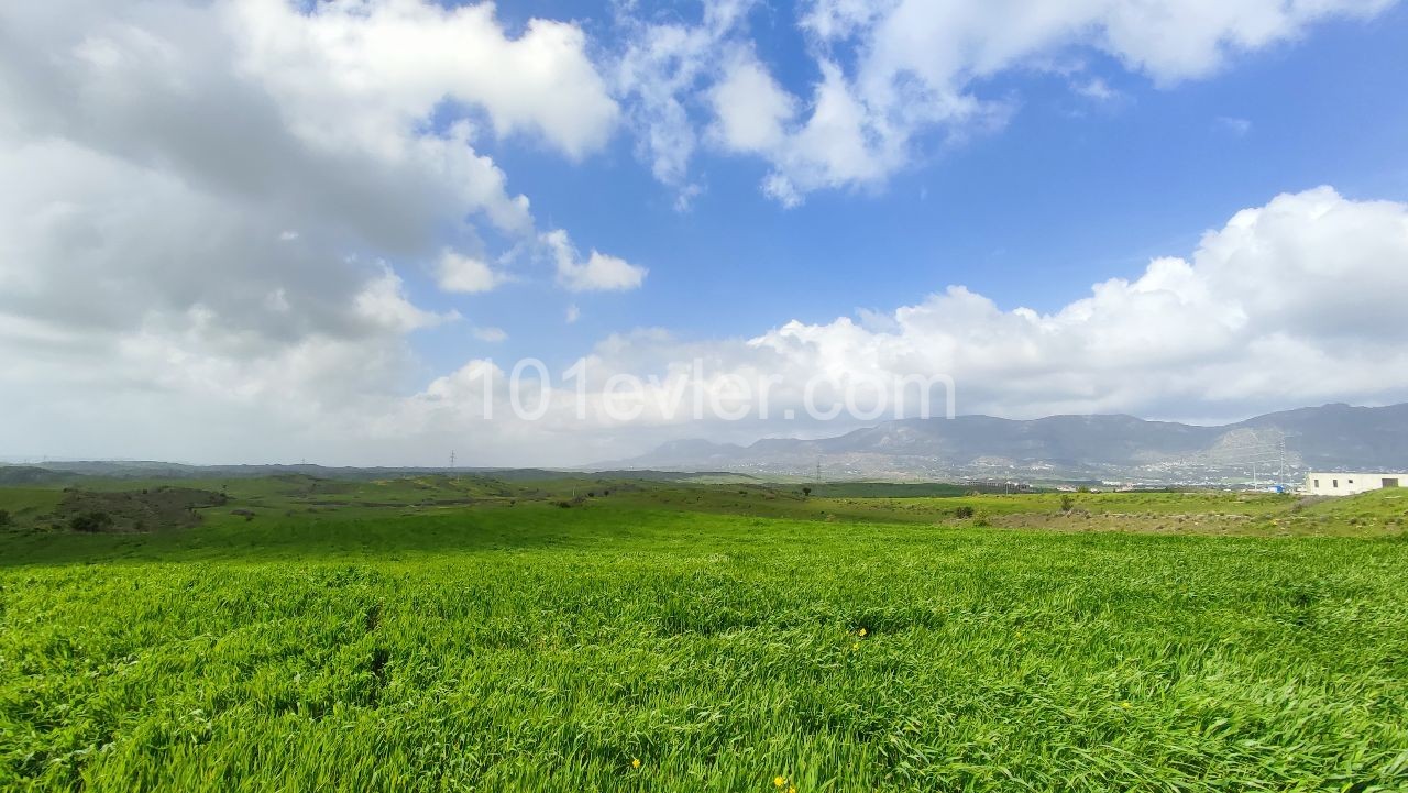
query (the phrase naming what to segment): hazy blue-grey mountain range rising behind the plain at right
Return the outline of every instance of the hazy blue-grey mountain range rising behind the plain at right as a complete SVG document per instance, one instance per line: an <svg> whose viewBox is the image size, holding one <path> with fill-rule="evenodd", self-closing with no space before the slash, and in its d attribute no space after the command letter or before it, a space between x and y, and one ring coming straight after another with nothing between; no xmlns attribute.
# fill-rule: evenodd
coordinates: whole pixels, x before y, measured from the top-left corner
<svg viewBox="0 0 1408 793"><path fill-rule="evenodd" d="M900 477L1290 480L1307 469L1408 469L1408 404L1326 404L1200 427L1133 416L887 421L748 447L676 441L612 468Z"/></svg>

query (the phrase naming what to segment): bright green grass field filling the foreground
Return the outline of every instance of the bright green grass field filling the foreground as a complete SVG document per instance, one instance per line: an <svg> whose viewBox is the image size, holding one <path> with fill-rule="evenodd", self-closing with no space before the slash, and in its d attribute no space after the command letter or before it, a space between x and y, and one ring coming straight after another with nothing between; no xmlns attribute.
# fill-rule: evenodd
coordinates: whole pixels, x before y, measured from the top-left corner
<svg viewBox="0 0 1408 793"><path fill-rule="evenodd" d="M200 486L0 490L0 787L1408 789L1390 493Z"/></svg>

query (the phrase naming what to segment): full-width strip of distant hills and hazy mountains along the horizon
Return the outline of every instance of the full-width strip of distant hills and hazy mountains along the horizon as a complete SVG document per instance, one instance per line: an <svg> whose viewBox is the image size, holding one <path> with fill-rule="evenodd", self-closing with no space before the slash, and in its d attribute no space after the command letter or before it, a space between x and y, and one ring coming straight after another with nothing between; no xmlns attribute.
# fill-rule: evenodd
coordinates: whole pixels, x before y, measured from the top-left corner
<svg viewBox="0 0 1408 793"><path fill-rule="evenodd" d="M1326 404L1200 427L1133 416L1050 416L1029 421L960 416L886 421L811 441L765 438L755 444L681 439L648 455L576 469L538 468L325 468L321 465L180 465L73 461L0 465L0 485L80 485L87 477L234 479L311 476L393 479L476 475L505 482L594 476L697 480L700 476L822 476L957 482L1148 482L1218 485L1294 482L1308 469L1408 470L1408 404Z"/></svg>

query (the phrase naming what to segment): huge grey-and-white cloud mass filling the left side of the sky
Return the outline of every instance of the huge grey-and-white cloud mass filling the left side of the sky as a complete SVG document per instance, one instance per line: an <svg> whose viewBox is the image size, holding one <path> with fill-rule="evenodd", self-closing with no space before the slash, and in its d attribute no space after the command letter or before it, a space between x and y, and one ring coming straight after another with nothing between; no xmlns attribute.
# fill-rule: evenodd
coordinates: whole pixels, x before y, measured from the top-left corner
<svg viewBox="0 0 1408 793"><path fill-rule="evenodd" d="M424 382L410 335L458 318L398 268L486 287L479 228L535 244L480 142L576 159L617 115L580 28L510 35L491 4L0 6L0 444L42 413L51 452L210 427L283 454L365 420Z"/></svg>

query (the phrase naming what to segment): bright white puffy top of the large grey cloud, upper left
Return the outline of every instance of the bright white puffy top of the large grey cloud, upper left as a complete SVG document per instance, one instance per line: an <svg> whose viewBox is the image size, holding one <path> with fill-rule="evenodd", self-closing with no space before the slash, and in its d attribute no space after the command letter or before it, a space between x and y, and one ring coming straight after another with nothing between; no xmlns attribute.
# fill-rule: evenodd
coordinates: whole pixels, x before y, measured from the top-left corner
<svg viewBox="0 0 1408 793"><path fill-rule="evenodd" d="M348 0L310 13L287 0L225 6L241 66L293 127L328 146L398 152L436 106L483 107L494 131L541 135L572 158L605 144L617 106L573 24L531 20L508 38L494 4Z"/></svg>

